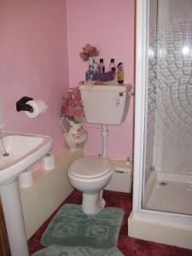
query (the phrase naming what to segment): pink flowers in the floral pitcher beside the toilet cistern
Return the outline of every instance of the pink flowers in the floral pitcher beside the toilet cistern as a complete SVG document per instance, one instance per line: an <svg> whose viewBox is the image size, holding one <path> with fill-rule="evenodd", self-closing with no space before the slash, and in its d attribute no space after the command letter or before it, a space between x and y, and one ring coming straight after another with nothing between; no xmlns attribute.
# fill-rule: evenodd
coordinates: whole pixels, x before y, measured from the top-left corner
<svg viewBox="0 0 192 256"><path fill-rule="evenodd" d="M83 116L84 107L79 88L71 88L67 91L67 96L62 97L61 117L67 117L75 123L81 123Z"/></svg>

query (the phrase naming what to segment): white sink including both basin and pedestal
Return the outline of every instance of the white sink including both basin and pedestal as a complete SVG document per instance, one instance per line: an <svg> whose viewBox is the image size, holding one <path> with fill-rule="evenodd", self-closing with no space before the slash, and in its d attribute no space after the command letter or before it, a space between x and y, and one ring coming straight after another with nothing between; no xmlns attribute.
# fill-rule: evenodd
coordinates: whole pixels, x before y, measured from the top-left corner
<svg viewBox="0 0 192 256"><path fill-rule="evenodd" d="M50 137L1 132L0 195L12 256L29 255L18 177L44 157L51 146Z"/></svg>

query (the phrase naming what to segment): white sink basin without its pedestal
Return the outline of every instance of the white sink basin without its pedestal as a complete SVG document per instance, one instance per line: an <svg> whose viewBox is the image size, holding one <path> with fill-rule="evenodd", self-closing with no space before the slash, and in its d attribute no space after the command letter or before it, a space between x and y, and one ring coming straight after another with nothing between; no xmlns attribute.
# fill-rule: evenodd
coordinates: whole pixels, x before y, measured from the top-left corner
<svg viewBox="0 0 192 256"><path fill-rule="evenodd" d="M8 182L40 160L52 146L50 137L2 132L0 140L0 183ZM4 148L9 153L3 156Z"/></svg>

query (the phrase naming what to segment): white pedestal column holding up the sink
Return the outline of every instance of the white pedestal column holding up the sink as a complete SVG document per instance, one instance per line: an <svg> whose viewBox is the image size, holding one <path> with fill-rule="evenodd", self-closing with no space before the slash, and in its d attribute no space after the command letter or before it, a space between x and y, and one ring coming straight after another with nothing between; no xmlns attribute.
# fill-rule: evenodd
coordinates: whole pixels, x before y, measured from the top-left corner
<svg viewBox="0 0 192 256"><path fill-rule="evenodd" d="M18 179L0 184L11 256L29 256Z"/></svg>

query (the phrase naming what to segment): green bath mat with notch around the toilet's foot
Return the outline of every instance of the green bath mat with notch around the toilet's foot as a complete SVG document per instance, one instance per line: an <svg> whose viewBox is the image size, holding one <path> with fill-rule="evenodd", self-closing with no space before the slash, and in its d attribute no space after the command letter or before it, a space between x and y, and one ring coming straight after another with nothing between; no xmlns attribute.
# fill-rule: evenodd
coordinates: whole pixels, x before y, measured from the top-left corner
<svg viewBox="0 0 192 256"><path fill-rule="evenodd" d="M120 208L107 207L96 215L86 215L79 205L65 205L44 232L44 246L116 247L124 217Z"/></svg>

